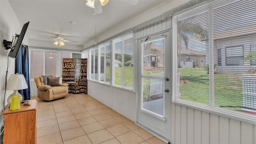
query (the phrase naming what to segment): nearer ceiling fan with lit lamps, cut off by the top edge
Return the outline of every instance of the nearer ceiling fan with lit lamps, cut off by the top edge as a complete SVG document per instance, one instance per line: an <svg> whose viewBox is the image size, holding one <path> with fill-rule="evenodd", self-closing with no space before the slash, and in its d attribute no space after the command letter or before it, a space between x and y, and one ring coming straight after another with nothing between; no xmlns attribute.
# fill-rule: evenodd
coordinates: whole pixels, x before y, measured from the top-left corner
<svg viewBox="0 0 256 144"><path fill-rule="evenodd" d="M121 0L123 2L126 2L128 4L135 5L138 3L138 0ZM102 13L102 6L105 6L108 3L108 0L87 0L86 6L89 6L91 8L94 8L95 14Z"/></svg>

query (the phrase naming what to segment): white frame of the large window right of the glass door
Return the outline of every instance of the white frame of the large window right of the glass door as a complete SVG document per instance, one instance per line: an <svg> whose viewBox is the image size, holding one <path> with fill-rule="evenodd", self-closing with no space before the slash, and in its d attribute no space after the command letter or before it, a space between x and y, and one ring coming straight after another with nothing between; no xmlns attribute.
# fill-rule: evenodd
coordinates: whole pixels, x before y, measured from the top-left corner
<svg viewBox="0 0 256 144"><path fill-rule="evenodd" d="M233 1L232 1L233 2ZM222 6L226 5L226 4L229 4L229 3L232 3L232 2L229 2L229 1L225 1L223 2ZM178 105L182 105L182 106L186 106L186 107L189 107L189 108L194 108L194 109L197 109L197 110L202 110L204 112L208 112L210 114L217 114L219 116L225 116L225 117L228 117L228 118L232 118L232 119L235 119L235 120L239 120L239 121L242 121L242 122L248 122L250 124L255 124L256 122L256 115L254 114L249 114L249 113L245 113L245 112L240 112L240 111L236 111L236 110L229 110L229 109L226 109L226 108L220 108L220 107L217 107L217 106L214 106L214 103L212 103L211 101L213 100L214 101L214 94L211 94L211 90L214 90L214 85L210 85L209 86L209 89L210 89L210 96L209 96L209 100L210 100L210 104L209 105L204 105L204 104L200 104L198 102L193 102L193 101L187 101L187 100L182 100L182 99L179 99L177 98L177 83L178 83L178 48L177 48L177 29L178 29L178 26L177 26L177 22L178 22L178 15L182 15L182 16L186 16L186 18L189 18L190 16L188 16L188 12L190 12L191 16L194 16L196 14L199 14L200 12L204 12L204 10L206 10L207 8L205 8L204 6L208 7L208 18L209 18L209 27L210 25L213 26L213 18L210 18L210 16L213 16L213 9L214 7L212 4L214 3L213 2L205 2L204 4L200 5L200 6L193 6L191 8L189 8L188 10L183 10L181 12L178 12L176 14L173 15L172 17L172 28L173 28L173 37L172 37L172 69L173 69L173 72L172 72L172 78L173 78L173 81L172 81L172 97L171 97L171 102L173 104L178 104ZM212 4L212 5L211 5ZM191 12L193 10L198 10L196 12ZM202 8L202 10L200 10L200 8ZM213 32L213 29L210 29L209 28L209 31L212 31ZM214 58L216 58L216 56L214 56L214 43L213 43L213 38L209 38L209 43L211 45L209 45L209 47L211 48L209 50L209 56L212 58L211 62L209 62L209 64L211 65L210 67L210 71L213 72L214 71ZM243 50L243 54L244 54L244 50ZM218 57L217 57L218 59ZM210 61L210 60L209 60ZM212 79L214 77L211 77L210 76L210 80L214 80Z"/></svg>

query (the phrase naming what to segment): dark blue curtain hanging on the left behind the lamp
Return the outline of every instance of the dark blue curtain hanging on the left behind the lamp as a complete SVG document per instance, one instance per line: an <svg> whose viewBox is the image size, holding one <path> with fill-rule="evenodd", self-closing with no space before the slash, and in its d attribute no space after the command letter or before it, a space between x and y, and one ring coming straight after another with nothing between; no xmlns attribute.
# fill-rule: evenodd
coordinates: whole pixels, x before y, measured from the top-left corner
<svg viewBox="0 0 256 144"><path fill-rule="evenodd" d="M24 90L18 90L23 96L23 100L30 100L30 77L29 77L29 60L28 60L28 46L20 46L17 58L15 59L15 73L23 74L28 88Z"/></svg>

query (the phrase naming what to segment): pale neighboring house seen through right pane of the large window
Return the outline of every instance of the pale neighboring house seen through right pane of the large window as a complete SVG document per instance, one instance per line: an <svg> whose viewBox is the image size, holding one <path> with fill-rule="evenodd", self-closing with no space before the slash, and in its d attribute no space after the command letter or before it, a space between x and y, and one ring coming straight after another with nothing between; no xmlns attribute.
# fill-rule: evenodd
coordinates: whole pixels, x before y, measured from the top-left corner
<svg viewBox="0 0 256 144"><path fill-rule="evenodd" d="M248 31L251 27L254 27L254 30ZM255 61L244 60L249 52L256 52L255 27L255 25L244 26L214 33L216 73L245 73L252 68L256 70ZM239 31L244 32L243 36L236 34ZM232 37L230 37L230 33L232 33ZM233 69L236 69L236 71Z"/></svg>

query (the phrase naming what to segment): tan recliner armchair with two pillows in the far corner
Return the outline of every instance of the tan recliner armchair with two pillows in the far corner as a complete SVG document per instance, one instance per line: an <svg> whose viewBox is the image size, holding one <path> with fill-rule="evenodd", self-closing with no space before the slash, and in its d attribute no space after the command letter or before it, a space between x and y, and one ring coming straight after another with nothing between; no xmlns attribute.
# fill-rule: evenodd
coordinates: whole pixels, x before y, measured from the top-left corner
<svg viewBox="0 0 256 144"><path fill-rule="evenodd" d="M60 84L60 86L44 85L42 76L34 78L37 87L37 97L41 100L56 100L68 96L68 84Z"/></svg>

